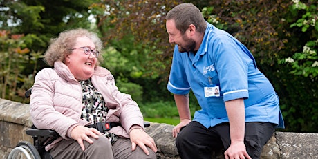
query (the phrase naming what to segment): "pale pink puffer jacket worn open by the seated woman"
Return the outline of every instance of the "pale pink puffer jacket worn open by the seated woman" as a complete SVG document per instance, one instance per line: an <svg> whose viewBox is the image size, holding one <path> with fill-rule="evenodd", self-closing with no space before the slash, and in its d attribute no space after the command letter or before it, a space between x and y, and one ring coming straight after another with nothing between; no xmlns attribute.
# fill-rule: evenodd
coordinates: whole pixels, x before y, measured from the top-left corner
<svg viewBox="0 0 318 159"><path fill-rule="evenodd" d="M95 68L91 81L110 109L106 121L122 124L122 127L113 127L109 132L129 138L127 132L133 125L144 127L138 104L131 99L131 95L118 91L110 71ZM69 139L75 124L88 124L80 119L82 107L82 86L64 63L55 62L54 68L44 68L37 73L30 98L30 113L35 127L53 129L62 138ZM46 149L52 148L62 138Z"/></svg>

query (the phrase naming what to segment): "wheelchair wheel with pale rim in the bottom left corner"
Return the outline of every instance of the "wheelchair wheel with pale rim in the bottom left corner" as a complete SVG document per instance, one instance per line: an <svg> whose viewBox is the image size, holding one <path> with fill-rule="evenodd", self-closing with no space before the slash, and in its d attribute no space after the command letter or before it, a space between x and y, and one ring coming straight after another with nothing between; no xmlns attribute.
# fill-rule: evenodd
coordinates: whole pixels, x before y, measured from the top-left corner
<svg viewBox="0 0 318 159"><path fill-rule="evenodd" d="M16 158L41 159L41 156L30 142L22 141L17 144L15 149L12 149L8 156L8 159Z"/></svg>

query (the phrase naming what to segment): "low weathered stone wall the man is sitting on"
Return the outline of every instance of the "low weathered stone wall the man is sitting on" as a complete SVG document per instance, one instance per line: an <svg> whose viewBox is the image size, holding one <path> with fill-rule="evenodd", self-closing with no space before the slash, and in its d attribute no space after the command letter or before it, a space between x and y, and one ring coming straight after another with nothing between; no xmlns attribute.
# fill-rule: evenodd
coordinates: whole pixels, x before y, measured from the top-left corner
<svg viewBox="0 0 318 159"><path fill-rule="evenodd" d="M26 129L32 126L29 105L0 99L0 157L8 154L20 141L32 138L26 135ZM171 135L174 126L151 122L146 128L158 147L158 158L180 158ZM261 158L318 158L318 133L275 132L263 147ZM215 154L213 158L223 158Z"/></svg>

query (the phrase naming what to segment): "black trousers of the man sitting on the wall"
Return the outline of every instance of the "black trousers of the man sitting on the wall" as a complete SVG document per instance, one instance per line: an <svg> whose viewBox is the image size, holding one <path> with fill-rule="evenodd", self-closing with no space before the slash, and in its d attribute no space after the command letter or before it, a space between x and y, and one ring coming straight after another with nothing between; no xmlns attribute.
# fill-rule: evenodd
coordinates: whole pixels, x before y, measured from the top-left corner
<svg viewBox="0 0 318 159"><path fill-rule="evenodd" d="M274 124L268 122L247 122L244 143L253 159L260 158L263 145L274 133ZM183 159L212 158L213 152L225 151L230 147L230 126L228 122L205 128L199 122L190 122L176 138L178 153Z"/></svg>

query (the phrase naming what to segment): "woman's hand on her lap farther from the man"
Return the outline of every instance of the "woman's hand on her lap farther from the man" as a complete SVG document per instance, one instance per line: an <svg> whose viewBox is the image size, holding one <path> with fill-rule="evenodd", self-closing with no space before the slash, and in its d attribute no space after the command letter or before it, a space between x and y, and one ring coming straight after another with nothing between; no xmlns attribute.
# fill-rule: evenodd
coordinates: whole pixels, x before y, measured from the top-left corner
<svg viewBox="0 0 318 159"><path fill-rule="evenodd" d="M87 141L90 144L93 144L93 141L88 138L88 136L98 139L98 135L102 135L102 133L94 128L88 128L80 125L74 127L71 131L71 138L77 140L83 151L85 150L83 140Z"/></svg>

